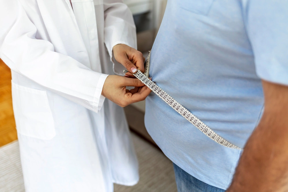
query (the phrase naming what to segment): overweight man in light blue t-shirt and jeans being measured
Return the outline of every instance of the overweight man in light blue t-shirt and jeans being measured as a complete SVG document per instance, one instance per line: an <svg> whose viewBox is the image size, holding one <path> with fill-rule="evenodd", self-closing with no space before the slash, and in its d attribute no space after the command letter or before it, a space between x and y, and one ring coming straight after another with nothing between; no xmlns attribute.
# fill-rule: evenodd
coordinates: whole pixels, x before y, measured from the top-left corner
<svg viewBox="0 0 288 192"><path fill-rule="evenodd" d="M145 126L174 163L179 192L288 191L288 1L168 0L151 50Z"/></svg>

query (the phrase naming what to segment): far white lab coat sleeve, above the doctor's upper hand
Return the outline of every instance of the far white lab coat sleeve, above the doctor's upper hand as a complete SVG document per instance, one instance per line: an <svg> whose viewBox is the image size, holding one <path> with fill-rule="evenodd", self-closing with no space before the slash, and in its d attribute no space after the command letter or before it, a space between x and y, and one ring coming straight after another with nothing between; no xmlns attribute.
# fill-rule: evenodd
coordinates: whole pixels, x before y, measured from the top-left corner
<svg viewBox="0 0 288 192"><path fill-rule="evenodd" d="M113 56L113 47L125 44L137 49L136 27L132 13L121 0L104 0L104 42L113 62L114 73L124 75L125 67Z"/></svg>

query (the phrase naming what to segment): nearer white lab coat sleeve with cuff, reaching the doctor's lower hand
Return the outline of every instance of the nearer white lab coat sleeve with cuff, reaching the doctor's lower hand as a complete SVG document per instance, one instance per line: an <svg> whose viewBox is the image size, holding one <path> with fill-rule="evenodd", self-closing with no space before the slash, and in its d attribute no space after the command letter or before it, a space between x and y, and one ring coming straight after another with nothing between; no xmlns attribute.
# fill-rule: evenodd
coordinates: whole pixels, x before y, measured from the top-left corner
<svg viewBox="0 0 288 192"><path fill-rule="evenodd" d="M11 70L36 83L98 112L108 75L92 71L77 60L54 51L52 43L36 39L37 28L22 5L15 0L1 1L0 58Z"/></svg>

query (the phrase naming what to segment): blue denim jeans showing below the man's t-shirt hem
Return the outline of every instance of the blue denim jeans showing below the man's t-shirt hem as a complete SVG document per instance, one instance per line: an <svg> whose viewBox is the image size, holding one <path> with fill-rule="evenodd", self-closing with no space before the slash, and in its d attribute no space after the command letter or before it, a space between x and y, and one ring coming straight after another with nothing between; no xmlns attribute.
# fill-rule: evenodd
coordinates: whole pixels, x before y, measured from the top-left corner
<svg viewBox="0 0 288 192"><path fill-rule="evenodd" d="M173 163L178 192L224 192L224 189L204 183Z"/></svg>

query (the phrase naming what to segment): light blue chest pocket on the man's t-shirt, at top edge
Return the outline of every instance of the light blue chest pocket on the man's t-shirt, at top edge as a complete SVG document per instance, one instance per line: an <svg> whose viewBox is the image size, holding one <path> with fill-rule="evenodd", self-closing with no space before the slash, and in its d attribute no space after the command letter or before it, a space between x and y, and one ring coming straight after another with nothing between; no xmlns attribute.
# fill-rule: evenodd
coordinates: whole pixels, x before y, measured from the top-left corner
<svg viewBox="0 0 288 192"><path fill-rule="evenodd" d="M179 1L179 6L190 12L201 15L207 15L214 0L182 0Z"/></svg>

